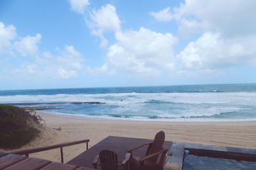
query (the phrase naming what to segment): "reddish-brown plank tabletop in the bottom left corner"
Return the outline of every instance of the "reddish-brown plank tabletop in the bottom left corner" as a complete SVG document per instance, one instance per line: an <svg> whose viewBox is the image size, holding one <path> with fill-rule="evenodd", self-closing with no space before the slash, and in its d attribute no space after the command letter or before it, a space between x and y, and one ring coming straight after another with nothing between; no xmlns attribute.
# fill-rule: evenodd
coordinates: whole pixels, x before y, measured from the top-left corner
<svg viewBox="0 0 256 170"><path fill-rule="evenodd" d="M8 154L4 152L0 152L0 169L4 170L34 170L34 169L80 169L80 170L93 170L92 168L88 167L78 167L74 165L62 164L58 162L51 162L50 160L45 159L37 159L33 157L25 157L23 155L16 155L16 154Z"/></svg>

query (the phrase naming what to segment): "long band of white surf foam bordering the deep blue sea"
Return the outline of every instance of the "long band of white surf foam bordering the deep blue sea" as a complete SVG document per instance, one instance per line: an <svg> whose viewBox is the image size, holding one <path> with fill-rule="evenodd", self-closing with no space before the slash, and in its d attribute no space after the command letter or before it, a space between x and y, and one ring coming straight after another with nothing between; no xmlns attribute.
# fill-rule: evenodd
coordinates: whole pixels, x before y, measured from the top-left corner
<svg viewBox="0 0 256 170"><path fill-rule="evenodd" d="M0 103L40 102L90 102L99 101L113 103L115 101L136 101L157 103L256 103L256 92L224 92L224 93L116 93L116 94L54 94L54 95L18 95L0 96Z"/></svg>

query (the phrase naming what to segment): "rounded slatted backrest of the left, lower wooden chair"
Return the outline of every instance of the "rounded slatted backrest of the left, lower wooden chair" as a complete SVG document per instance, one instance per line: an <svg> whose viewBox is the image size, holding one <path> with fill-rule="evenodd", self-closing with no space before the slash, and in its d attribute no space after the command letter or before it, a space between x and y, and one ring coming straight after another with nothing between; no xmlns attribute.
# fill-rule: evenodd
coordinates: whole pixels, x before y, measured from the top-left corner
<svg viewBox="0 0 256 170"><path fill-rule="evenodd" d="M103 170L117 170L118 161L115 152L110 150L102 150L99 153L100 165Z"/></svg>

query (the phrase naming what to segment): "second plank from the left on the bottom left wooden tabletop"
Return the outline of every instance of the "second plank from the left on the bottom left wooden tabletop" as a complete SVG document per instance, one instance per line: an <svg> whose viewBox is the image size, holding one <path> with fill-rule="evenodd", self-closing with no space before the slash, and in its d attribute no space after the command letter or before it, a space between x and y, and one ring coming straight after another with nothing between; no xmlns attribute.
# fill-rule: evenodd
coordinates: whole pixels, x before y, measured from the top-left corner
<svg viewBox="0 0 256 170"><path fill-rule="evenodd" d="M28 159L18 162L17 164L13 164L12 166L9 166L4 170L11 170L11 169L12 170L20 170L20 169L35 170L35 169L40 169L41 167L44 167L50 163L51 161L49 160L30 157Z"/></svg>

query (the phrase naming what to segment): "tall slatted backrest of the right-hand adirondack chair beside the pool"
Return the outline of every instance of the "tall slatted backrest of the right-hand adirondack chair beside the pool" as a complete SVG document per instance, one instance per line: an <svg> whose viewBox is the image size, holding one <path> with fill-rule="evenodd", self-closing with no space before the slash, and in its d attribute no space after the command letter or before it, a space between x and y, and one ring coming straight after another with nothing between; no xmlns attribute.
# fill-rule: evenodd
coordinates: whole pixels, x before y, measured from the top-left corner
<svg viewBox="0 0 256 170"><path fill-rule="evenodd" d="M148 155L152 154L152 153L156 153L159 152L162 147L163 147L163 143L164 143L164 139L165 139L165 134L163 131L160 131L156 134L155 139L152 143L152 146L150 148L148 148ZM157 156L156 157L152 157L152 159L150 159L152 161L156 161L157 160Z"/></svg>

